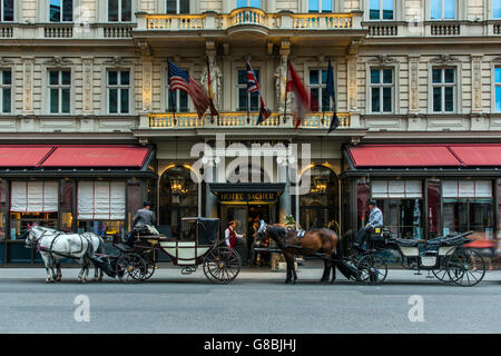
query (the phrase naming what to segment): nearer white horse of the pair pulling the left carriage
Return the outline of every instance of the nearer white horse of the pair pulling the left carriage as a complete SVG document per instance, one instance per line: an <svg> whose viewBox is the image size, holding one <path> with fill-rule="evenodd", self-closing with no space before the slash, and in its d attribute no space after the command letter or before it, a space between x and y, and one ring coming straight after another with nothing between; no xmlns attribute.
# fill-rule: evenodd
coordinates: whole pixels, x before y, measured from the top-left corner
<svg viewBox="0 0 501 356"><path fill-rule="evenodd" d="M79 283L86 283L89 275L90 258L94 257L96 243L94 234L63 234L55 229L28 226L26 245L37 247L43 259L47 270L46 283L61 280L60 259L71 258L80 263L82 268L78 275ZM96 235L95 235L96 236ZM97 236L96 236L97 237ZM98 244L99 245L99 244ZM55 271L58 269L58 273ZM101 275L102 276L102 275Z"/></svg>

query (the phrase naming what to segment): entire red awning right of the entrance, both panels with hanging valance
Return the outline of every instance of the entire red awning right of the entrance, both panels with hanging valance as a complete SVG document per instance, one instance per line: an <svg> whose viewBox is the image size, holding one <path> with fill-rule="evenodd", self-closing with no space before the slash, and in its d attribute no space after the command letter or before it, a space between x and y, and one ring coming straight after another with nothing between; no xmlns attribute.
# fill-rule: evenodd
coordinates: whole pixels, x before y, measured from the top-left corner
<svg viewBox="0 0 501 356"><path fill-rule="evenodd" d="M345 157L353 172L475 172L501 174L500 144L362 145Z"/></svg>

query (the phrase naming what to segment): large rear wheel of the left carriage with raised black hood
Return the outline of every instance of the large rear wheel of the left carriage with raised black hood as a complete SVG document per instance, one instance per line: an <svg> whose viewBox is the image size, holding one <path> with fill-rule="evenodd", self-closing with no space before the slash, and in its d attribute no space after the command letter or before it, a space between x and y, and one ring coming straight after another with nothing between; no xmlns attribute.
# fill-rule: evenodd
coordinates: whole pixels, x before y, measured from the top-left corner
<svg viewBox="0 0 501 356"><path fill-rule="evenodd" d="M210 249L204 257L204 274L212 283L227 284L240 271L242 259L233 248L222 246Z"/></svg>

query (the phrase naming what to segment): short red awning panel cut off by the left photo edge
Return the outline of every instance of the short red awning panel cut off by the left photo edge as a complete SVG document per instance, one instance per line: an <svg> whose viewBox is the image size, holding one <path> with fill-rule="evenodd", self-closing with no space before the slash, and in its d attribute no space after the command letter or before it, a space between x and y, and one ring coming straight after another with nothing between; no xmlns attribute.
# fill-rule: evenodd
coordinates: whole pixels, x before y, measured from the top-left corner
<svg viewBox="0 0 501 356"><path fill-rule="evenodd" d="M0 146L0 167L37 167L52 146Z"/></svg>

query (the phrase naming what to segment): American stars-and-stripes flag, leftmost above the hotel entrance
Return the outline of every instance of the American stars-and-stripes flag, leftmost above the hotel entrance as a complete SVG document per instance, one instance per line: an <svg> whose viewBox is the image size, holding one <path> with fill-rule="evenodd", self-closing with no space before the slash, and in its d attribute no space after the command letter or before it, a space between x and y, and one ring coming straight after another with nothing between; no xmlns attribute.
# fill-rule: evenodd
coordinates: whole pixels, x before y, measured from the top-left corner
<svg viewBox="0 0 501 356"><path fill-rule="evenodd" d="M184 90L191 98L191 101L197 109L198 117L202 118L207 109L210 107L210 99L202 85L189 77L189 75L181 70L176 65L168 63L169 85L170 90Z"/></svg>

